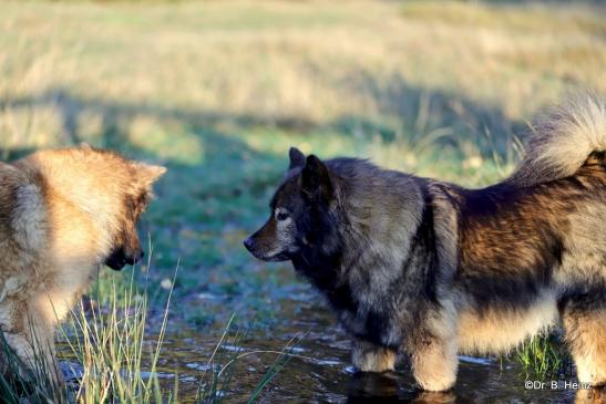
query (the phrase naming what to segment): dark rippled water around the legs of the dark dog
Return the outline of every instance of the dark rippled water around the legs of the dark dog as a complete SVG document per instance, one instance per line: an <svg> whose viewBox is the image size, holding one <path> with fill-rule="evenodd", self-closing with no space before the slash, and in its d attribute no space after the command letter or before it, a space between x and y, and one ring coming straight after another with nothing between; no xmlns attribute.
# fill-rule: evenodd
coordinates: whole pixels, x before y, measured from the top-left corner
<svg viewBox="0 0 606 404"><path fill-rule="evenodd" d="M606 402L592 396L598 392L551 389L549 381L544 381L545 389L525 389L526 377L515 361L464 355L460 356L458 383L452 392L422 393L414 387L405 362L388 374L355 373L349 363L349 339L321 299L308 288L301 287L292 299L276 302L275 309L279 313L277 323L257 324L237 343L229 340L218 349L217 355L224 354L227 360L243 356L232 367L229 385L217 393L224 394L226 402L247 402L278 356L257 351L280 352L296 335L302 336L290 350L292 358L264 390L260 402L569 403L575 397L577 402ZM201 376L212 372L208 359L219 338L204 328L168 333L158 380L170 389L177 374L183 402L195 402ZM563 381L559 383L562 387Z"/></svg>

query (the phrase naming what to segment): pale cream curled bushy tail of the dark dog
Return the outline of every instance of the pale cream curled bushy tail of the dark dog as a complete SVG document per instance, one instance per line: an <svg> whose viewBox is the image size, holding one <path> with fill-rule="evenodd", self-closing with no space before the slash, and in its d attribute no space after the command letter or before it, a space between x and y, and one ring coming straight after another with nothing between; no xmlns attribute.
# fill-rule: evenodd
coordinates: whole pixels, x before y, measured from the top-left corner
<svg viewBox="0 0 606 404"><path fill-rule="evenodd" d="M594 152L606 151L606 102L577 94L534 123L526 155L509 178L531 186L576 173Z"/></svg>

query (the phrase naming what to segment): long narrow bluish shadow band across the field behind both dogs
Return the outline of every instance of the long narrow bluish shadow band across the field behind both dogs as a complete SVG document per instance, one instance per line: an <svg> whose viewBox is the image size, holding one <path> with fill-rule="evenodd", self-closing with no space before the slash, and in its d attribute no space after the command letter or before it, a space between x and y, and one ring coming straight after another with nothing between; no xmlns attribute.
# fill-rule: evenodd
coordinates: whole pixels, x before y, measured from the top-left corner
<svg viewBox="0 0 606 404"><path fill-rule="evenodd" d="M514 134L525 132L525 124L509 118L499 105L482 104L461 94L413 86L401 74L379 82L371 73L359 71L343 86L346 92L368 94L377 106L376 116L343 115L327 123L289 114L233 114L82 97L64 87L52 87L33 96L0 100L0 108L54 107L62 126L59 143L65 145L85 141L80 131L81 117L96 114L101 116L103 146L126 152L136 151L136 147L133 147L125 128L133 118L141 116L177 122L202 137L215 136L213 141L218 142L226 142L223 138L225 134L216 131L217 125L225 122L242 128L270 127L292 133L320 130L342 135L361 134L362 137L379 134L388 143L396 141L399 133L407 137L422 137L428 130L450 127L453 138L465 136L482 143L490 135L495 142L490 147L499 152L505 149Z"/></svg>

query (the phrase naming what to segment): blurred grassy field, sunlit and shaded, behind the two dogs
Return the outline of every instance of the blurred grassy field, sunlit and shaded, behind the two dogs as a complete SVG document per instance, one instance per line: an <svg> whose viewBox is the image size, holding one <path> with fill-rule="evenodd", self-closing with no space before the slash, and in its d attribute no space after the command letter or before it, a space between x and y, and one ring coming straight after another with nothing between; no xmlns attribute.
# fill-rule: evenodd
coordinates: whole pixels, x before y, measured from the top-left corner
<svg viewBox="0 0 606 404"><path fill-rule="evenodd" d="M152 266L135 269L151 328L173 290L170 329L220 336L237 312L270 334L300 281L242 240L289 146L497 180L541 107L567 91L606 94L605 14L597 3L2 2L0 158L88 142L166 165L142 226Z"/></svg>

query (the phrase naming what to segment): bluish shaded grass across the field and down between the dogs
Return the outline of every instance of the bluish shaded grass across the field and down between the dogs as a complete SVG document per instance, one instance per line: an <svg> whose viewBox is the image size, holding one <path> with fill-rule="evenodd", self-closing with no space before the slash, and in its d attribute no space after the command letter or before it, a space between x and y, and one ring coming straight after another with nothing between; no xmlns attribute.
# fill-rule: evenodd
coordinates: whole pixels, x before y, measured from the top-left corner
<svg viewBox="0 0 606 404"><path fill-rule="evenodd" d="M163 270L172 270L181 260L187 271L179 280L184 288L177 290L187 290L185 294L213 291L215 287L209 284L219 283L217 293L238 296L246 294L244 289L247 288L243 289L228 278L234 274L239 278L243 268L254 265L240 241L265 219L270 193L287 165L286 153L277 155L251 146L246 136L256 136L256 128L278 131L278 141L284 143L286 151L292 142L289 134L298 134L299 141L311 133L316 137L332 134L361 144L370 144L380 136L389 146L399 139L423 141L446 127L451 135L435 141L438 149L442 145L459 147L468 142L483 153L497 151L506 155L511 153L514 132L521 127L497 106L414 87L398 74L379 83L370 73L361 71L343 85L352 93L369 94L379 108L377 116L386 116L386 120L341 116L333 122L317 123L300 116L229 114L152 102L83 97L63 87L28 97L0 100L0 110L50 107L57 111L62 124L58 144L92 141L95 146L165 164L170 172L157 185L158 198L152 204L143 226L143 234L151 231L154 235L156 265ZM82 128L83 121L90 116L96 116L100 122L92 137ZM145 136L142 139L140 135L134 142L130 131L138 118L160 123L164 139L148 146ZM179 146L177 152L166 153L185 137L189 143ZM8 149L3 151L3 157L16 158L29 152L29 148ZM312 152L322 154L321 149ZM220 279L210 279L212 270L217 268L220 271L216 277Z"/></svg>

